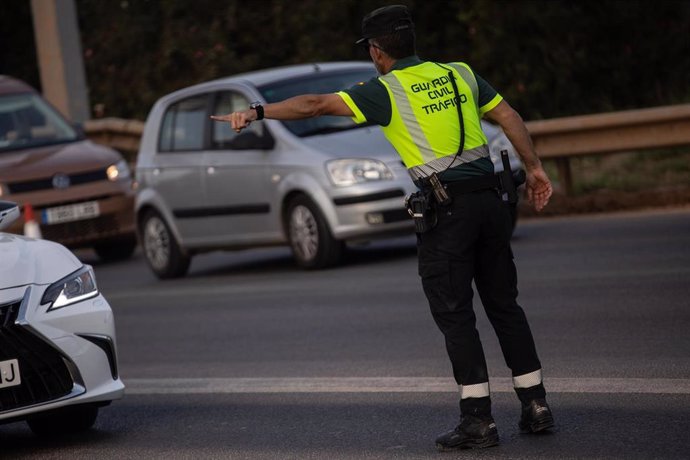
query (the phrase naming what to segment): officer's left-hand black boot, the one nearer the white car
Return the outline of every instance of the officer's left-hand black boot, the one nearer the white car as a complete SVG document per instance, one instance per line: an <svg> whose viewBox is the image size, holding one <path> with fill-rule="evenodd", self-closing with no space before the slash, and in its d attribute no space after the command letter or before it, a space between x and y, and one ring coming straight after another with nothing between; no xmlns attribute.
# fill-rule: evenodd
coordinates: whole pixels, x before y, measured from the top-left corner
<svg viewBox="0 0 690 460"><path fill-rule="evenodd" d="M498 430L491 416L463 415L460 425L436 438L436 448L441 452L497 445Z"/></svg>

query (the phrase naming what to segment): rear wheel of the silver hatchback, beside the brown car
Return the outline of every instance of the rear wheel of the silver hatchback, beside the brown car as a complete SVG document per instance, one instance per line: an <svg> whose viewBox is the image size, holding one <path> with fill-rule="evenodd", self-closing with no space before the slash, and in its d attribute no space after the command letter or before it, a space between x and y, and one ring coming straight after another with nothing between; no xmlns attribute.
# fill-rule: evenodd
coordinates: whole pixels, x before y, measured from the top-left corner
<svg viewBox="0 0 690 460"><path fill-rule="evenodd" d="M191 259L156 211L149 210L142 217L139 237L146 262L158 278L178 278L187 273Z"/></svg>

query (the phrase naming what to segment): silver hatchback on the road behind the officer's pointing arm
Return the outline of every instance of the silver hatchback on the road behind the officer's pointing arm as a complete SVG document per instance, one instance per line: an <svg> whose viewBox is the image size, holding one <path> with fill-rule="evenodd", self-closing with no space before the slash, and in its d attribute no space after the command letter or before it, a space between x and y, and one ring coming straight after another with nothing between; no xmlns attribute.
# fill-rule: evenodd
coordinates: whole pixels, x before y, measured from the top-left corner
<svg viewBox="0 0 690 460"><path fill-rule="evenodd" d="M346 242L410 234L403 202L416 189L377 126L324 116L264 120L237 134L210 119L374 75L365 62L289 66L158 100L136 166L137 229L153 272L182 276L194 254L282 244L301 267L323 268L339 262ZM505 139L500 130L493 137Z"/></svg>

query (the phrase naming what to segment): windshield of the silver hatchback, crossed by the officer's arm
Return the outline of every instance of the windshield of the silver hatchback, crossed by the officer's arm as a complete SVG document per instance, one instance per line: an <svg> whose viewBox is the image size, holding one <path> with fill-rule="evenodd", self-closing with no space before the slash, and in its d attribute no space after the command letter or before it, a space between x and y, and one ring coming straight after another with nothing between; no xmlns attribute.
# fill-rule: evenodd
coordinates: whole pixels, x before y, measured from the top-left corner
<svg viewBox="0 0 690 460"><path fill-rule="evenodd" d="M344 72L315 73L308 77L284 80L259 88L266 102L278 102L299 94L329 94L347 89L357 83L376 76L372 69L357 69ZM327 134L337 131L368 126L356 124L348 117L322 116L306 120L283 121L293 134L300 137Z"/></svg>

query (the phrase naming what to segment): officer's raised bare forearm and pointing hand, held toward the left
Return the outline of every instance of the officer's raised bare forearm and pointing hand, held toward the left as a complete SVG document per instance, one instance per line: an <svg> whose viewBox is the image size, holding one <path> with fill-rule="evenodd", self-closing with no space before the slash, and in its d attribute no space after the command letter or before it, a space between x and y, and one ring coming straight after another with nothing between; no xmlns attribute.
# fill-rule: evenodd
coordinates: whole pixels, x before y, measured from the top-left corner
<svg viewBox="0 0 690 460"><path fill-rule="evenodd" d="M264 118L275 120L301 120L321 115L352 117L354 113L337 94L304 94L264 105ZM257 112L253 109L211 116L216 121L229 122L237 132L249 126L256 117Z"/></svg>

